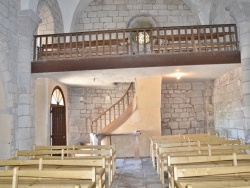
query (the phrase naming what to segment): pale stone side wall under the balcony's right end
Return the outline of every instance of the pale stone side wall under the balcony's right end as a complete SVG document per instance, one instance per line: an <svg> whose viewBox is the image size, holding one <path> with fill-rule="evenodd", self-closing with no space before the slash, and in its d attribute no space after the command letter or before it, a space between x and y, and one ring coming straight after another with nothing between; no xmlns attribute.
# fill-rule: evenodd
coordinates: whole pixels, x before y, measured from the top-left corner
<svg viewBox="0 0 250 188"><path fill-rule="evenodd" d="M214 82L215 129L220 136L245 140L241 68Z"/></svg>

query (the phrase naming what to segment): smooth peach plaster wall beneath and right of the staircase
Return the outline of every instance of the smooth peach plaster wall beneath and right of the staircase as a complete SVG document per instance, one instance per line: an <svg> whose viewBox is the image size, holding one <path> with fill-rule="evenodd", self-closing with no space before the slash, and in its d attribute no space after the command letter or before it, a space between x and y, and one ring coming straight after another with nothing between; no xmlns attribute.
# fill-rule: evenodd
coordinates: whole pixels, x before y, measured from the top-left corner
<svg viewBox="0 0 250 188"><path fill-rule="evenodd" d="M161 135L161 77L137 78L137 109L132 116L113 134L111 143L115 144L118 157L148 157L149 137ZM140 135L134 136L139 130Z"/></svg>

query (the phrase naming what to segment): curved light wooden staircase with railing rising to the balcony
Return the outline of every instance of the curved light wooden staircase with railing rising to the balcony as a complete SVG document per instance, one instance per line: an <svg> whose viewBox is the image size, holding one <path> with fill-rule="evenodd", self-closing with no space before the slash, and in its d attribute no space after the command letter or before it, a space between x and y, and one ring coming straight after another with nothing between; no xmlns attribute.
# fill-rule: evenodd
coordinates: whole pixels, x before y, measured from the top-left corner
<svg viewBox="0 0 250 188"><path fill-rule="evenodd" d="M131 83L119 101L92 121L90 127L91 133L104 136L110 135L132 115L136 109L136 105L134 84Z"/></svg>

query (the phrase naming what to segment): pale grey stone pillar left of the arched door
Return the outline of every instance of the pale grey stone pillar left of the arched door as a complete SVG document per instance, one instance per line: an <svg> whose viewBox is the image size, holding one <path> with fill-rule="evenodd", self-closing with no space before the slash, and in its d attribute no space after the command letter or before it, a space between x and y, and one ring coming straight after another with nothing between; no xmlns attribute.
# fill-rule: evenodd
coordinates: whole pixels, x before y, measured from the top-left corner
<svg viewBox="0 0 250 188"><path fill-rule="evenodd" d="M19 49L18 49L18 123L16 131L16 148L31 149L34 144L34 83L31 76L31 61L33 54L33 35L41 22L39 16L32 10L19 12Z"/></svg>

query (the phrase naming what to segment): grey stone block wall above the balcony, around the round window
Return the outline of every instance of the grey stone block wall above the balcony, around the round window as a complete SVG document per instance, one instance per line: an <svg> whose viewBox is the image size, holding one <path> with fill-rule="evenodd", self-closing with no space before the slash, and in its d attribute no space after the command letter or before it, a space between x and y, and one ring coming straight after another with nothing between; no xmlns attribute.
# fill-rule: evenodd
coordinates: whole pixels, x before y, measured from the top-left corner
<svg viewBox="0 0 250 188"><path fill-rule="evenodd" d="M73 30L123 29L140 15L152 17L157 26L198 23L182 0L95 0L76 18Z"/></svg>

